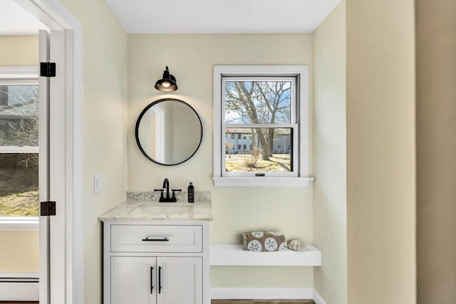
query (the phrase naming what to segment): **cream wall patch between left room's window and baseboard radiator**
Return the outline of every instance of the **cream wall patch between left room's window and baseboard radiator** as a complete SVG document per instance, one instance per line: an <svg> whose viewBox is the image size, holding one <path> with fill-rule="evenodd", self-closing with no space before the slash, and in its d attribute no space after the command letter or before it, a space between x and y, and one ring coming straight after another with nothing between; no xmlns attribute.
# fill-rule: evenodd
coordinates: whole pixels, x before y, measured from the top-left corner
<svg viewBox="0 0 456 304"><path fill-rule="evenodd" d="M38 252L38 231L1 231L0 273L38 273Z"/></svg>

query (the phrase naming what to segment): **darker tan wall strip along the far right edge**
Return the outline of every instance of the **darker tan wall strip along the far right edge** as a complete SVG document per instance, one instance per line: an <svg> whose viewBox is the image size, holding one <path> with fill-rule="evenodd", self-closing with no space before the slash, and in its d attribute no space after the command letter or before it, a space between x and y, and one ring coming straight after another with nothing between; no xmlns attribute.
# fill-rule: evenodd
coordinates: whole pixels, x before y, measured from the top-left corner
<svg viewBox="0 0 456 304"><path fill-rule="evenodd" d="M415 5L418 303L454 303L456 1Z"/></svg>

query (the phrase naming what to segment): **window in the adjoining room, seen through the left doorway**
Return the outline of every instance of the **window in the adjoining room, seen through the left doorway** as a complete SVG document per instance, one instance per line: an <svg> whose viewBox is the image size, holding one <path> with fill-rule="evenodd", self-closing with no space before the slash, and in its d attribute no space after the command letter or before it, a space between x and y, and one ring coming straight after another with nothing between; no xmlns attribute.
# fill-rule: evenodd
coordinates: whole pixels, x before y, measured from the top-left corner
<svg viewBox="0 0 456 304"><path fill-rule="evenodd" d="M36 68L1 68L0 168L0 216L38 216Z"/></svg>

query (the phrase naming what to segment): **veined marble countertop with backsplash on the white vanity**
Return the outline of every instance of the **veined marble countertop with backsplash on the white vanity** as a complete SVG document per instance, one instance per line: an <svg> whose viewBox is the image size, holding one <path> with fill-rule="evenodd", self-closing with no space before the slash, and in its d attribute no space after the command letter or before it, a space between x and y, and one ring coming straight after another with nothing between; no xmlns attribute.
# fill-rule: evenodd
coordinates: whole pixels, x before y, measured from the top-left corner
<svg viewBox="0 0 456 304"><path fill-rule="evenodd" d="M160 194L128 192L127 201L98 216L99 221L212 221L210 192L196 192L195 203L178 193L177 202L159 203Z"/></svg>

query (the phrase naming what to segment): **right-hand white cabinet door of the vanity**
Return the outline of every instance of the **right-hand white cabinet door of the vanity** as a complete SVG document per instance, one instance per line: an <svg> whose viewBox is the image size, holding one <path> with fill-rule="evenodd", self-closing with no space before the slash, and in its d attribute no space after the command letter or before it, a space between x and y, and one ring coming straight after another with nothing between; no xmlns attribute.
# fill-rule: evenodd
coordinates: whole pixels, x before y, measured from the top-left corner
<svg viewBox="0 0 456 304"><path fill-rule="evenodd" d="M202 303L202 258L158 257L158 304Z"/></svg>

